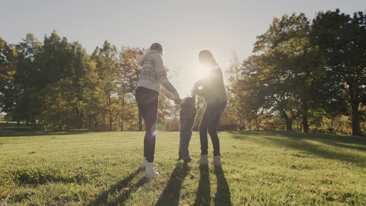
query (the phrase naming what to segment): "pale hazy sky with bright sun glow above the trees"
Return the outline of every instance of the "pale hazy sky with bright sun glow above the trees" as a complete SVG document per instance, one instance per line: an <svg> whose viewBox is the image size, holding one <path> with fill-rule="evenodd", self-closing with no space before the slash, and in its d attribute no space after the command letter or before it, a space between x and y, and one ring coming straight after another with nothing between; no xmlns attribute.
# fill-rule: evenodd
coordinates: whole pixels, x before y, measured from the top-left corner
<svg viewBox="0 0 366 206"><path fill-rule="evenodd" d="M176 87L183 98L200 77L198 52L208 49L224 71L235 51L240 61L250 56L256 36L273 17L318 11L353 14L366 10L365 0L2 0L2 37L16 44L33 33L43 41L56 30L79 41L91 54L105 40L122 46L163 45L164 63L179 69Z"/></svg>

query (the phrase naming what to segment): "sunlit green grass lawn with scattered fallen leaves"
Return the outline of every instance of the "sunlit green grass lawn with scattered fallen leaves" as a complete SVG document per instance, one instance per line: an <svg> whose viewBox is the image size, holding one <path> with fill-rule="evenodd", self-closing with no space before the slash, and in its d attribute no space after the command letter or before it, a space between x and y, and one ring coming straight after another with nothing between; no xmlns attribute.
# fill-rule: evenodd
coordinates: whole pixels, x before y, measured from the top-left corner
<svg viewBox="0 0 366 206"><path fill-rule="evenodd" d="M141 132L0 130L0 205L366 205L365 138L219 136L222 169L177 162L179 133L160 132L160 176L145 179ZM199 147L194 132L194 160Z"/></svg>

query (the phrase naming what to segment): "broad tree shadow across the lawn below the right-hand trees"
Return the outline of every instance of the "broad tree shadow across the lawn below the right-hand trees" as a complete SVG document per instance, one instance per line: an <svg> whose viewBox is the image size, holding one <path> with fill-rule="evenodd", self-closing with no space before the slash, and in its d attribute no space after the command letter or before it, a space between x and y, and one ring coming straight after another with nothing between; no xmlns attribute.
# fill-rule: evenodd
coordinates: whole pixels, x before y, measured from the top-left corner
<svg viewBox="0 0 366 206"><path fill-rule="evenodd" d="M273 143L277 144L280 147L294 148L296 150L309 152L318 157L328 159L339 159L342 161L356 163L363 167L366 167L366 159L361 155L347 155L344 154L341 150L338 150L339 152L336 150L333 151L326 150L322 146L318 146L316 144L312 144L305 141L305 140L319 141L321 143L329 144L332 147L350 148L364 151L364 148L362 146L361 147L348 146L345 144L365 145L366 144L365 137L321 135L321 134L300 133L300 132L241 132L240 135L234 136L234 138L246 139L247 137L245 135L260 136L264 139L272 141ZM286 137L286 139L279 137ZM251 139L251 137L249 137L248 139ZM256 139L254 141L263 141L263 140Z"/></svg>

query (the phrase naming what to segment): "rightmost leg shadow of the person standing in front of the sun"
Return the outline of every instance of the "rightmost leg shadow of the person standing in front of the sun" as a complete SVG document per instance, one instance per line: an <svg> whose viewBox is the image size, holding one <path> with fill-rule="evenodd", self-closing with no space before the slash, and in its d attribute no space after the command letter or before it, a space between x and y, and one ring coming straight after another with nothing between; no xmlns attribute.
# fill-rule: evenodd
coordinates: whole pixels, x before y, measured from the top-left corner
<svg viewBox="0 0 366 206"><path fill-rule="evenodd" d="M231 206L230 188L226 181L223 168L215 166L217 192L214 198L215 206Z"/></svg>

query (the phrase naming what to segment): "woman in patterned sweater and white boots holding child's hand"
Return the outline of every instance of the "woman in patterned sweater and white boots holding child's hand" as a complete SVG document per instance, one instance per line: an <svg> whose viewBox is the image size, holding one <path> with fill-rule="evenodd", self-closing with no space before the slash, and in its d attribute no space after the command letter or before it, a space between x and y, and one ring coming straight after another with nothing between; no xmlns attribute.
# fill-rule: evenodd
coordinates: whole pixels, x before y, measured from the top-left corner
<svg viewBox="0 0 366 206"><path fill-rule="evenodd" d="M176 104L182 101L177 90L173 87L167 77L167 70L163 62L163 47L154 43L150 51L146 52L139 60L142 66L141 73L135 92L135 98L139 113L145 121L146 133L143 141L144 159L140 168L145 168L145 176L153 178L159 175L154 170L156 120L159 105L159 94L164 93ZM163 87L162 87L163 86Z"/></svg>

